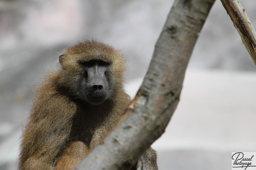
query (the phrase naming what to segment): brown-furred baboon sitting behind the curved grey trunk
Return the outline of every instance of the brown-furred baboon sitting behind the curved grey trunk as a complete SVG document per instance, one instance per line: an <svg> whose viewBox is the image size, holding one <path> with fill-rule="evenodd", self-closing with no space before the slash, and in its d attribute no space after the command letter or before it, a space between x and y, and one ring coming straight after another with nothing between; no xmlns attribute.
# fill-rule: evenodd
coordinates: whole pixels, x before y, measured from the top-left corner
<svg viewBox="0 0 256 170"><path fill-rule="evenodd" d="M120 51L84 41L67 48L59 63L35 90L21 140L22 170L73 169L130 102L123 87L125 60ZM133 169L156 170L156 152L150 147Z"/></svg>

